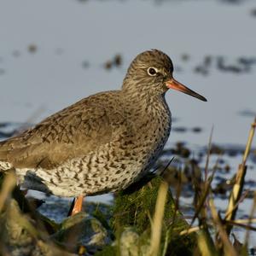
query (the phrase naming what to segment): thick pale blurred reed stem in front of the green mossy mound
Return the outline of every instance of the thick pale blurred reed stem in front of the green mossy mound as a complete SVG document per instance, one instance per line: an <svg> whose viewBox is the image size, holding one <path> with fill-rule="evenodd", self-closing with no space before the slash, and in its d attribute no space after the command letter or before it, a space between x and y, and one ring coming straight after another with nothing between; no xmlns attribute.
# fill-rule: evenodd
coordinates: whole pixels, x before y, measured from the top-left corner
<svg viewBox="0 0 256 256"><path fill-rule="evenodd" d="M160 189L156 199L153 224L151 227L151 241L150 241L149 255L152 255L152 256L158 255L160 250L161 230L162 230L163 218L165 214L167 192L168 192L168 184L166 182L162 182L160 184Z"/></svg>

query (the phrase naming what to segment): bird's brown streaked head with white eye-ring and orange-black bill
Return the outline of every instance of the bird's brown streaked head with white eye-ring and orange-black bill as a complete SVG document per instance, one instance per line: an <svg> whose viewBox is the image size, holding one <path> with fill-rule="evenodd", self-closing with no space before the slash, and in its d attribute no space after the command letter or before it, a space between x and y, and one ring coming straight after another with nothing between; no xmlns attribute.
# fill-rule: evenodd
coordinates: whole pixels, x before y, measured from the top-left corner
<svg viewBox="0 0 256 256"><path fill-rule="evenodd" d="M131 62L123 90L150 96L162 95L168 89L179 90L207 102L204 96L173 79L172 60L158 49L145 51Z"/></svg>

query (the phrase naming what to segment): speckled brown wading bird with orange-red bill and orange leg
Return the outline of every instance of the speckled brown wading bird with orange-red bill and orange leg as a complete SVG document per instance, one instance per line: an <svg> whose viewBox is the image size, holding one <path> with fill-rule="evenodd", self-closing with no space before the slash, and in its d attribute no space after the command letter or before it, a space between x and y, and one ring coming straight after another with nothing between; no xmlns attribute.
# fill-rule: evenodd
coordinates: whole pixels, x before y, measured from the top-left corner
<svg viewBox="0 0 256 256"><path fill-rule="evenodd" d="M127 188L150 171L169 137L167 90L207 102L173 78L159 49L137 55L119 90L85 97L38 125L0 143L0 172L15 170L20 186L75 197Z"/></svg>

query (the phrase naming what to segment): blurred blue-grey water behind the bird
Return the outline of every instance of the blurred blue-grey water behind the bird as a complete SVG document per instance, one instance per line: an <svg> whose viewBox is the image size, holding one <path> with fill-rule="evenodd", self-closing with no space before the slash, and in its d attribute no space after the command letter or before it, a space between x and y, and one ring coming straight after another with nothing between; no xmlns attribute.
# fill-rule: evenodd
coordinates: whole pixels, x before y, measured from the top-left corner
<svg viewBox="0 0 256 256"><path fill-rule="evenodd" d="M174 77L208 100L167 92L173 128L166 147L206 147L213 125L213 143L242 152L256 114L255 0L1 0L0 135L119 89L147 49L170 55ZM220 180L236 172L241 154L232 156ZM244 202L245 212L250 205Z"/></svg>

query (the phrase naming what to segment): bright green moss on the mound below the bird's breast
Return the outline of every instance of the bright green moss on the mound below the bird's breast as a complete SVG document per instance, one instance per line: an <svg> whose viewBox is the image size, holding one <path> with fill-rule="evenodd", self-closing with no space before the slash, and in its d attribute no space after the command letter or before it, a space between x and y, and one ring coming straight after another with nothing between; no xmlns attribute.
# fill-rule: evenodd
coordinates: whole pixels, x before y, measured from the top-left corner
<svg viewBox="0 0 256 256"><path fill-rule="evenodd" d="M161 177L154 177L149 183L133 193L120 192L113 207L111 224L118 234L125 227L133 227L139 235L140 247L150 239L150 218L154 217L154 209ZM196 236L179 236L180 231L189 227L181 212L175 210L175 202L169 190L166 198L165 214L162 224L161 247L165 247L166 255L192 255L196 245Z"/></svg>

